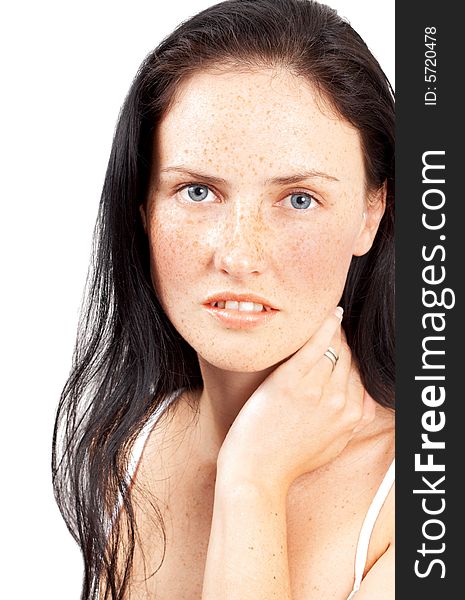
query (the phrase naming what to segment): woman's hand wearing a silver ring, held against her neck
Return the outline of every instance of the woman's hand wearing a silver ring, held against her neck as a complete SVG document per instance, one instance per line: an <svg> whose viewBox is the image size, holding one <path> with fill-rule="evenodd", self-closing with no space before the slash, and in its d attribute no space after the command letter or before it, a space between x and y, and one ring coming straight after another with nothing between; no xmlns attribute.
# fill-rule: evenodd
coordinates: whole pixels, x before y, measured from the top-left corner
<svg viewBox="0 0 465 600"><path fill-rule="evenodd" d="M303 473L330 462L374 418L341 327L341 309L277 367L247 400L223 442L218 474L287 492ZM333 369L324 356L339 356Z"/></svg>

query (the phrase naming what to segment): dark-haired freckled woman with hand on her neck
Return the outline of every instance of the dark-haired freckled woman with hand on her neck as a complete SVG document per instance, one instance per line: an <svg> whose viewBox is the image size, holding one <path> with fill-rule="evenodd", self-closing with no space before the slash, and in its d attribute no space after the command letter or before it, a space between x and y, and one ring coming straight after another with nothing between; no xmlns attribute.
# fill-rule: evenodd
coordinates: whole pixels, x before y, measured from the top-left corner
<svg viewBox="0 0 465 600"><path fill-rule="evenodd" d="M393 131L308 0L144 61L54 436L82 598L393 597Z"/></svg>

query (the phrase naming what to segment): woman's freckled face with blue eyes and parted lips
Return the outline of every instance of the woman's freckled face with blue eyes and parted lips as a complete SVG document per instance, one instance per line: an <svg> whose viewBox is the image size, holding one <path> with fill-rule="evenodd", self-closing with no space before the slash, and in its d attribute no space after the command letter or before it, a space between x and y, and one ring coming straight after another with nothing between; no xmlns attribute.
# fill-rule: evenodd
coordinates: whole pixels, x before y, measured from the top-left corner
<svg viewBox="0 0 465 600"><path fill-rule="evenodd" d="M141 212L173 325L218 368L292 355L336 307L382 216L357 130L289 72L206 71L179 89L154 155Z"/></svg>

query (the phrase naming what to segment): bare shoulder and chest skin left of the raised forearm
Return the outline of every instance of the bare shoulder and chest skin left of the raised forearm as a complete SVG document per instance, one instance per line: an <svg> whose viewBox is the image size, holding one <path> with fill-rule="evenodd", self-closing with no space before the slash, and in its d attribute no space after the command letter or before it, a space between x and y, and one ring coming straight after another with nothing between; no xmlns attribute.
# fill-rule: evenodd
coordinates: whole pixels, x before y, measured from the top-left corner
<svg viewBox="0 0 465 600"><path fill-rule="evenodd" d="M128 598L183 598L201 589L215 474L198 461L195 410L185 396L178 400L151 430L133 478Z"/></svg>

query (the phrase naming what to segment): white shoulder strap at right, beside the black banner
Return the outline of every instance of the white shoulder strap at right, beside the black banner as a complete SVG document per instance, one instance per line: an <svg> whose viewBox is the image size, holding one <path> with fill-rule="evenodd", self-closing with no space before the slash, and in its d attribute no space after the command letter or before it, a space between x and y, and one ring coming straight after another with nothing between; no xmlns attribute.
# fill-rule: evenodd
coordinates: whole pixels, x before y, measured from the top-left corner
<svg viewBox="0 0 465 600"><path fill-rule="evenodd" d="M355 583L352 588L352 592L347 600L351 600L356 592L360 588L362 583L363 572L365 571L365 565L368 556L368 545L370 543L371 534L376 523L376 519L381 511L381 508L389 494L389 491L394 483L395 479L395 460L392 461L389 469L387 470L375 497L371 501L370 508L367 511L365 520L363 521L360 535L357 542L357 551L355 554Z"/></svg>

